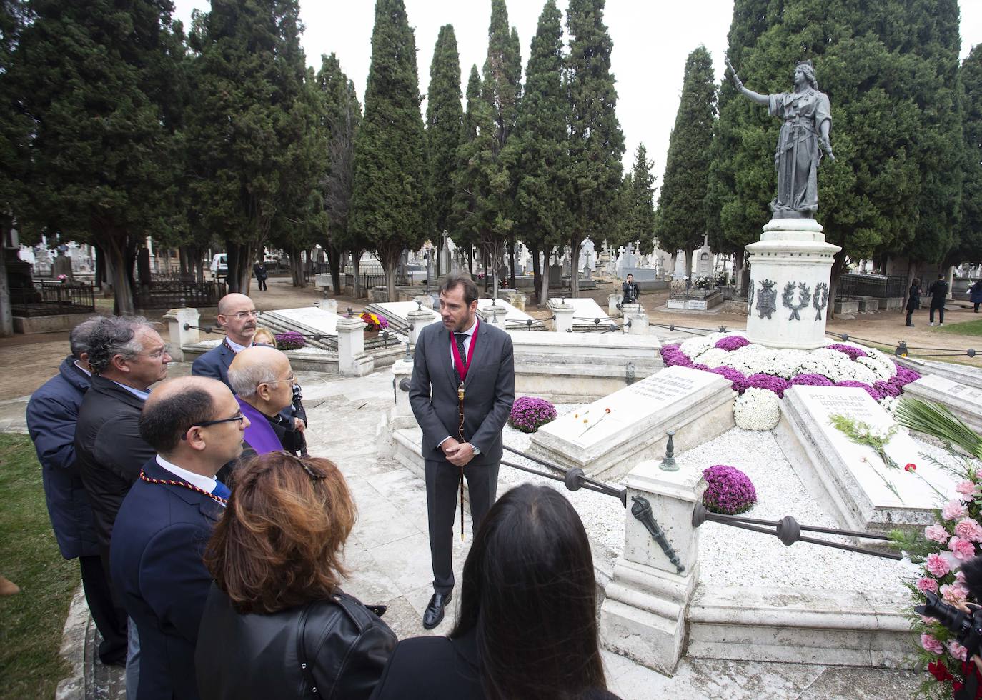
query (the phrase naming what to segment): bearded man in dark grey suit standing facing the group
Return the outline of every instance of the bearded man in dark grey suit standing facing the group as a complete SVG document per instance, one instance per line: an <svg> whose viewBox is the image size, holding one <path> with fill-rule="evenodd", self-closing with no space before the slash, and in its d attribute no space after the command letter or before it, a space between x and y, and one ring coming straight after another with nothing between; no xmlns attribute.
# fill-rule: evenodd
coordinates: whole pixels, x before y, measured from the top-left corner
<svg viewBox="0 0 982 700"><path fill-rule="evenodd" d="M496 498L501 431L515 403L512 339L478 320L477 286L470 277L451 273L444 278L440 315L442 324L419 334L409 387L426 466L434 591L423 613L427 629L443 619L454 589L451 553L462 471L476 533Z"/></svg>

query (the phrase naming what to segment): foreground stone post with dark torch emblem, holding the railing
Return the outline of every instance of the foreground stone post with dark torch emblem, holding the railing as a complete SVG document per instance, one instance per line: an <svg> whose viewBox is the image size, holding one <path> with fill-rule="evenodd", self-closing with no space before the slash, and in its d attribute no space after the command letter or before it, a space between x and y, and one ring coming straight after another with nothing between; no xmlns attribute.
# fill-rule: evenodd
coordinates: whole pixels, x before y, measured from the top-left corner
<svg viewBox="0 0 982 700"><path fill-rule="evenodd" d="M699 535L692 510L706 489L702 474L664 471L644 461L627 474L624 554L614 565L600 609L604 646L659 673L675 673L682 656L685 610L699 579ZM675 549L682 572L631 513L641 497Z"/></svg>

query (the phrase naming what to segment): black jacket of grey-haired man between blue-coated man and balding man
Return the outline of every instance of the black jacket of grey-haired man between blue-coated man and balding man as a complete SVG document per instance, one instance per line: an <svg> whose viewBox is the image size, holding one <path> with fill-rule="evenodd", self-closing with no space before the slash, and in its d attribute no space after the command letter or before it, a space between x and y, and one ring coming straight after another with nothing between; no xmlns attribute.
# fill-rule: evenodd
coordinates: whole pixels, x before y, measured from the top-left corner
<svg viewBox="0 0 982 700"><path fill-rule="evenodd" d="M116 513L139 477L139 467L155 452L139 436L143 402L104 377L94 375L90 381L79 408L75 452L95 515L99 553L108 564Z"/></svg>

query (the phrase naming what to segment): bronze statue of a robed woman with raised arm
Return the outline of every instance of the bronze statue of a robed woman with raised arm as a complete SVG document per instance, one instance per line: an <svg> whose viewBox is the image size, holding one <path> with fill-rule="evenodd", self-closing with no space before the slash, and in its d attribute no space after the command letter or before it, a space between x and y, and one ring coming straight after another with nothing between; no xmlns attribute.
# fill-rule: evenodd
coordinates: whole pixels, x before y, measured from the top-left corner
<svg viewBox="0 0 982 700"><path fill-rule="evenodd" d="M778 193L771 201L774 219L812 219L818 210L818 163L822 150L835 160L829 132L832 112L829 98L818 89L811 61L794 69L794 91L762 95L748 90L736 77L736 89L758 104L767 105L767 113L784 120L774 167L778 171ZM820 150L821 148L821 150Z"/></svg>

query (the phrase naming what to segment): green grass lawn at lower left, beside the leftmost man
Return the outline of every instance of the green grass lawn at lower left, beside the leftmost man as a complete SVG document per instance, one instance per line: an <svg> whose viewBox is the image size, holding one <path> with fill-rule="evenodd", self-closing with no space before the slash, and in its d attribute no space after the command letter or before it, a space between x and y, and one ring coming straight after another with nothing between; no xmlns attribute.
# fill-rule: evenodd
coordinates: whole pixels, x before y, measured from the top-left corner
<svg viewBox="0 0 982 700"><path fill-rule="evenodd" d="M0 598L0 696L51 698L71 672L58 655L79 563L58 551L27 435L0 434L0 574L21 587Z"/></svg>

